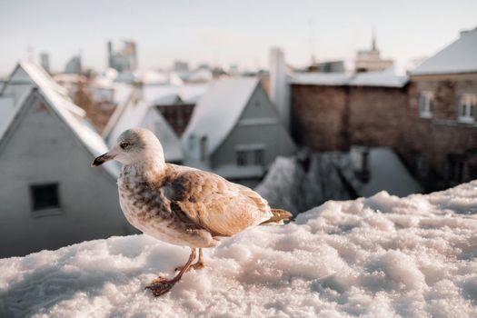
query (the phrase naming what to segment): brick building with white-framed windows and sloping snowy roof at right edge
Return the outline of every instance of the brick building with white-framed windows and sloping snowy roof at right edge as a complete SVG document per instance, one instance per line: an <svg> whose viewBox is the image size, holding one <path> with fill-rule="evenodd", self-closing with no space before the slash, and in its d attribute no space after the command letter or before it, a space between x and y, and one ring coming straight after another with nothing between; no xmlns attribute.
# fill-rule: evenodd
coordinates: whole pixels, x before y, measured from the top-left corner
<svg viewBox="0 0 477 318"><path fill-rule="evenodd" d="M477 28L411 73L402 155L430 189L477 178Z"/></svg>

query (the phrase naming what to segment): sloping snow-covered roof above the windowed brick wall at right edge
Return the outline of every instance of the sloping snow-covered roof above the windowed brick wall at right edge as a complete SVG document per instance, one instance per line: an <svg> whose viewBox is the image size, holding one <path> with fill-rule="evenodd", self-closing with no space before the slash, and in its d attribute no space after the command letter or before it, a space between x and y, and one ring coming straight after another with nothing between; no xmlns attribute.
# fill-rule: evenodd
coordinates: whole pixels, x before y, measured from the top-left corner
<svg viewBox="0 0 477 318"><path fill-rule="evenodd" d="M437 75L477 72L477 28L462 32L461 37L417 66L411 75Z"/></svg>

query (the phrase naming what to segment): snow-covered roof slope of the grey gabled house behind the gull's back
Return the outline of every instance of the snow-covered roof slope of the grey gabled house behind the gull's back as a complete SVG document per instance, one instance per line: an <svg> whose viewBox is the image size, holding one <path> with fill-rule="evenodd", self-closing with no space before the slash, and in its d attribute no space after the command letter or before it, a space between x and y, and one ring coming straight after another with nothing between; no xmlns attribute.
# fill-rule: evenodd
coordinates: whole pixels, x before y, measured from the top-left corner
<svg viewBox="0 0 477 318"><path fill-rule="evenodd" d="M185 129L184 148L190 135L206 136L212 154L234 128L258 84L256 77L221 78L210 84Z"/></svg>

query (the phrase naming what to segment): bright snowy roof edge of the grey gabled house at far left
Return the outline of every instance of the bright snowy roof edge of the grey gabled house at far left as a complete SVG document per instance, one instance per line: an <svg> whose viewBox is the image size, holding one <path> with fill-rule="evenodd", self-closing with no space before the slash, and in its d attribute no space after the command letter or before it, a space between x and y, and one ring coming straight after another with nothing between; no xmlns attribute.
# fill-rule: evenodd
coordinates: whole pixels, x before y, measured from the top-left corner
<svg viewBox="0 0 477 318"><path fill-rule="evenodd" d="M38 92L44 96L55 113L68 124L91 154L98 156L107 152L108 149L106 144L104 144L103 138L97 134L94 127L88 122L84 110L73 104L65 93L64 88L56 84L53 78L48 75L41 66L31 62L22 62L17 65L15 71L18 68L25 71L26 75L31 79L32 84L38 88ZM14 113L18 112L20 108L20 106L16 107ZM12 114L10 123L14 117L15 114ZM5 129L10 123L5 125ZM4 133L5 130L0 134L0 139ZM119 173L117 165L104 164L104 168L114 177Z"/></svg>

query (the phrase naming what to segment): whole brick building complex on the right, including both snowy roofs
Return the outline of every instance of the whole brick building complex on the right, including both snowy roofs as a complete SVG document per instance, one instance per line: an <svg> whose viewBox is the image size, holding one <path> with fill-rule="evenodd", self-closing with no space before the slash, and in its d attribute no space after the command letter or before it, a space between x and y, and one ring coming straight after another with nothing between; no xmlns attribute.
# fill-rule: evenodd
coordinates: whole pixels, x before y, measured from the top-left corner
<svg viewBox="0 0 477 318"><path fill-rule="evenodd" d="M312 150L392 147L430 191L477 178L477 29L409 79L293 75L291 96L293 137Z"/></svg>

